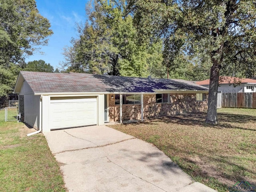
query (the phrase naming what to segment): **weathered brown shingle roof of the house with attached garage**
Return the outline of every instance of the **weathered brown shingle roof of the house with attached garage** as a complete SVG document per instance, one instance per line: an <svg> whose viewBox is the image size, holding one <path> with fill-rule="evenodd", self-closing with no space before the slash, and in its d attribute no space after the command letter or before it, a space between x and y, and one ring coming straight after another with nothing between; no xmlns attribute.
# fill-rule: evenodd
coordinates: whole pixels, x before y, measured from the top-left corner
<svg viewBox="0 0 256 192"><path fill-rule="evenodd" d="M20 74L34 93L154 92L154 89L208 90L203 86L186 80L135 78L84 73L64 74L20 71Z"/></svg>

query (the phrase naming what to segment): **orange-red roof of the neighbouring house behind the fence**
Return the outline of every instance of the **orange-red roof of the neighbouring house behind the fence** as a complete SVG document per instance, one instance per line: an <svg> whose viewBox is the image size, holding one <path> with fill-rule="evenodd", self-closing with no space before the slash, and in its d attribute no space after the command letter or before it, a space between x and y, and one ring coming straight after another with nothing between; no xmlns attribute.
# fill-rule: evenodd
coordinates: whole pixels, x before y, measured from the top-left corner
<svg viewBox="0 0 256 192"><path fill-rule="evenodd" d="M248 78L238 78L238 77L229 77L229 76L220 76L219 84L232 84L232 83L255 83L256 80L248 79ZM203 81L197 81L196 84L198 85L209 85L210 79L206 79Z"/></svg>

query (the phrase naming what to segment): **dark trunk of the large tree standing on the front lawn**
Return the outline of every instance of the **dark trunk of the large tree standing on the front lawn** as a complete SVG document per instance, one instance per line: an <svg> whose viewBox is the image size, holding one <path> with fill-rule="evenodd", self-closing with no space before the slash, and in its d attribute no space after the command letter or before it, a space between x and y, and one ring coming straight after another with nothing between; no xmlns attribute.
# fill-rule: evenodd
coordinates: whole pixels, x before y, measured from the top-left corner
<svg viewBox="0 0 256 192"><path fill-rule="evenodd" d="M208 124L218 124L217 121L217 96L219 83L219 64L214 59L214 63L210 72L209 96L208 96L208 110L205 122Z"/></svg>

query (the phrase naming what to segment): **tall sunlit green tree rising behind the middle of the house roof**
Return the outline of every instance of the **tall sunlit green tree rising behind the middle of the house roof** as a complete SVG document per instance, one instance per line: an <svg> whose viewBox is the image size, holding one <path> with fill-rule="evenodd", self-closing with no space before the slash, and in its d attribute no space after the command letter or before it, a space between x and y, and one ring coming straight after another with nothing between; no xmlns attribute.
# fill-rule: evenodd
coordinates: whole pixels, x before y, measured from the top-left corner
<svg viewBox="0 0 256 192"><path fill-rule="evenodd" d="M154 70L162 63L162 41L140 44L140 34L126 6L124 0L95 0L86 6L88 20L77 25L79 38L72 39L72 46L64 48L64 66L69 66L68 70L137 77L164 76L159 67Z"/></svg>

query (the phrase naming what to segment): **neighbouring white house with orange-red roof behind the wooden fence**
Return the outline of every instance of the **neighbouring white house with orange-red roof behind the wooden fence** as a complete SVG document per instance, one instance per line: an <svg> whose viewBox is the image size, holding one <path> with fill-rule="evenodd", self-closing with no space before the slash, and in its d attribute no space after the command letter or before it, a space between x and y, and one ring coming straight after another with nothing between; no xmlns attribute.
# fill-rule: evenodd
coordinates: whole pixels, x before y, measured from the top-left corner
<svg viewBox="0 0 256 192"><path fill-rule="evenodd" d="M210 79L197 81L196 84L209 88ZM221 76L219 78L218 91L222 91L222 93L256 92L256 80L247 79L247 78Z"/></svg>

